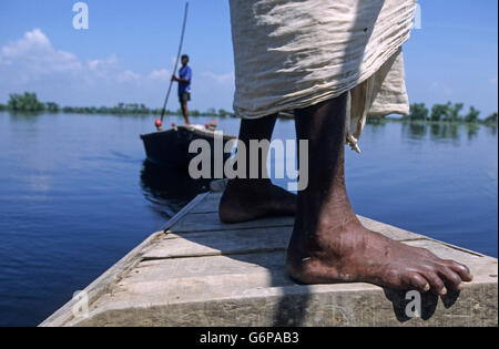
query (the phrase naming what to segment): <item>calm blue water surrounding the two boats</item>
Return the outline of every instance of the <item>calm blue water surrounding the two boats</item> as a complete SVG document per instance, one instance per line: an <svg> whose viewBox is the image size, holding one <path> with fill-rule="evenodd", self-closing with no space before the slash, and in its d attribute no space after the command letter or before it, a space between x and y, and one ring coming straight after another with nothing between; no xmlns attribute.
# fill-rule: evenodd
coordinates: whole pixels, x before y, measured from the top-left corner
<svg viewBox="0 0 499 349"><path fill-rule="evenodd" d="M153 122L0 113L0 326L38 325L206 189L144 166ZM346 153L358 214L497 257L497 129L368 124L360 146Z"/></svg>

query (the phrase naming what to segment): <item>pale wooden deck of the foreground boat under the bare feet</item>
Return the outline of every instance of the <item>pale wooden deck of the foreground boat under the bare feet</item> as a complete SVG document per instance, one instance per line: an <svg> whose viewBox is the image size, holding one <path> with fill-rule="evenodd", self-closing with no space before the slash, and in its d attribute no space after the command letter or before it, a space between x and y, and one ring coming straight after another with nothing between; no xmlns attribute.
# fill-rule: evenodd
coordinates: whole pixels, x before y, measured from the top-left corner
<svg viewBox="0 0 499 349"><path fill-rule="evenodd" d="M69 301L41 326L497 326L497 259L360 217L368 228L441 258L475 279L459 295L421 295L368 284L297 285L285 270L293 218L223 224L221 194L205 193L86 287L89 314Z"/></svg>

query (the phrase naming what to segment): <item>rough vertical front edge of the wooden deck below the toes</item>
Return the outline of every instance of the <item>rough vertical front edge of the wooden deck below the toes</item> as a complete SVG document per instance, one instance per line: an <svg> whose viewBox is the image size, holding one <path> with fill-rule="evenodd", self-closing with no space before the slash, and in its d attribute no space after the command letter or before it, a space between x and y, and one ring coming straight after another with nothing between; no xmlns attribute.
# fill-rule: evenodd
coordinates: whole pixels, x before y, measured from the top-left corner
<svg viewBox="0 0 499 349"><path fill-rule="evenodd" d="M267 289L265 297L255 290L226 299L170 305L144 297L100 307L73 326L497 327L497 283L473 284L457 299L425 295L422 318L411 319L405 315L408 301L404 294L348 286L336 291L325 285L275 287Z"/></svg>

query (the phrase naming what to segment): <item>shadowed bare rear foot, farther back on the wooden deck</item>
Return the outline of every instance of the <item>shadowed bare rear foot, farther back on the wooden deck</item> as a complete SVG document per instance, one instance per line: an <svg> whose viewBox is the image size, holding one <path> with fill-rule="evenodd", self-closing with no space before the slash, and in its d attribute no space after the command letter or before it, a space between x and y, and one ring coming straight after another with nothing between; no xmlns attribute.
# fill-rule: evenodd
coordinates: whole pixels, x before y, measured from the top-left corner
<svg viewBox="0 0 499 349"><path fill-rule="evenodd" d="M295 214L296 195L273 185L269 179L230 181L218 208L220 219L224 223Z"/></svg>

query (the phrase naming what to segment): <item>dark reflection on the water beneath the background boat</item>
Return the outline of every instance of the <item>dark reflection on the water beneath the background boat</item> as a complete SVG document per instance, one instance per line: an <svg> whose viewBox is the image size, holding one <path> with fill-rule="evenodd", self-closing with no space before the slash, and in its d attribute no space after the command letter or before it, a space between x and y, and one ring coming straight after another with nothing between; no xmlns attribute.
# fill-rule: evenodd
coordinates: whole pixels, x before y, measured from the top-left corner
<svg viewBox="0 0 499 349"><path fill-rule="evenodd" d="M165 170L145 160L141 187L152 209L171 218L197 194L210 191L210 179L193 179L187 172Z"/></svg>

